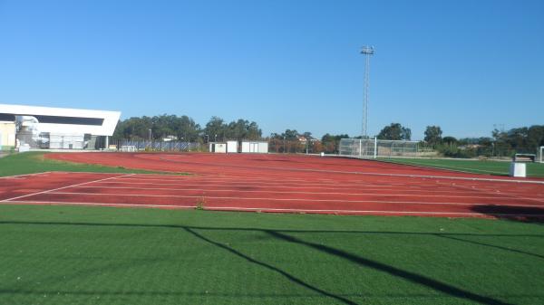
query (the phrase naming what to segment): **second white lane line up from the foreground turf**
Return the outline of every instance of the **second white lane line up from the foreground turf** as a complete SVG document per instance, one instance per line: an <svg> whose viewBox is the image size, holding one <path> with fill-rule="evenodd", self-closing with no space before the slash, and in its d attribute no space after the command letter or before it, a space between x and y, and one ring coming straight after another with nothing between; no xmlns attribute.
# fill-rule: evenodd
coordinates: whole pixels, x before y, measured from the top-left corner
<svg viewBox="0 0 544 305"><path fill-rule="evenodd" d="M209 196L209 195L142 195L142 194L100 194L84 192L48 192L49 195L105 195L105 196L124 196L124 197L158 197L158 198L206 198L206 199L234 199L234 200L268 200L268 201L299 201L299 202L332 202L332 203L361 203L361 204L412 204L412 205L492 205L490 203L429 203L419 201L386 201L386 200L335 200L335 199L304 199L304 198L268 198L268 197L229 197L229 196ZM526 206L542 207L543 205L510 205L500 204L500 206Z"/></svg>

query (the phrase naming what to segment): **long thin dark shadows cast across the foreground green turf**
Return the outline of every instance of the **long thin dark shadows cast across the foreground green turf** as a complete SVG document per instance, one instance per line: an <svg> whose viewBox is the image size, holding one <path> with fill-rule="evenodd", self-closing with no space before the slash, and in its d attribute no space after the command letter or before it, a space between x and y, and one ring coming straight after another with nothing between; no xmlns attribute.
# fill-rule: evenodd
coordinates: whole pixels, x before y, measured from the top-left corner
<svg viewBox="0 0 544 305"><path fill-rule="evenodd" d="M228 251L229 253L232 253L232 254L235 254L235 255L238 255L239 257L241 258L244 258L245 260L247 260L248 262L252 262L252 263L256 263L257 265L260 265L264 268L267 268L271 271L274 271L274 272L277 272L281 275L283 275L284 277L286 277L289 281L293 281L295 282L296 284L298 285L301 285L311 291L316 291L322 295L325 295L325 296L328 296L330 298L333 298L335 300L339 300L345 304L357 304L355 303L353 300L348 300L342 296L338 296L338 295L335 295L334 293L331 293L331 292L328 292L328 291L324 291L316 286L313 286L312 284L310 283L307 283L306 281L302 281L298 278L296 278L296 276L288 273L288 272L285 272L271 264L268 264L267 262L260 262L260 261L257 261L256 259L248 256L247 254L245 253L241 253L239 252L238 250L235 250L229 246L227 246L226 244L223 244L223 243L218 243L218 242L215 242L207 237L205 237L204 235L202 234L199 234L198 232L196 232L197 230L209 230L209 231L255 231L255 232L262 232L262 233L266 233L266 234L269 234L270 236L274 237L274 238L277 238L281 241L284 241L284 242L287 242L287 243L296 243L296 244L299 244L299 245L303 245L303 246L306 246L306 247L309 247L311 249L315 249L317 251L320 251L320 252L323 252L323 253L327 253L329 255L335 255L336 257L339 257L339 258L342 258L342 259L345 259L349 262L354 262L356 264L359 264L361 266L364 266L364 267L368 267L368 268L372 268L376 271L379 271L379 272L384 272L384 273L387 273L389 275L392 275L394 277L398 277L398 278L402 278L406 281L412 281L413 283L416 283L416 284L420 284L420 285L423 285L425 287L428 287L428 288L431 288L432 290L435 290L435 291L441 291L445 294L448 294L452 297L455 297L455 298L460 298L460 299L464 299L464 300L470 300L470 301L475 301L475 302L480 302L482 304L490 304L490 305L493 305L493 304L497 304L497 305L503 305L503 304L510 304L510 303L507 303L507 302L504 302L504 301L501 301L501 300L496 300L496 299L493 299L493 298L490 298L490 297L486 297L486 296L482 296L482 295L479 295L479 294L476 294L476 293L473 293L471 291L466 291L466 290L462 290L460 288L457 288L457 287L454 287L450 284L447 284L445 282L442 282L442 281L437 281L437 280L434 280L432 278L429 278L429 277L426 277L424 275L421 275L421 274L417 274L415 272L408 272L408 271L404 271L400 268L396 268L396 267L393 267L391 265L388 265L388 264L385 264L383 262L376 262L374 260L370 260L370 259L367 259L367 258L364 258L363 256L361 255L356 255L354 253L347 253L343 250L340 250L340 249L336 249L334 247L330 247L330 246L327 246L327 245L323 245L323 244L318 244L318 243L311 243L311 242L307 242L307 241L304 241L304 240L301 240L299 238L296 238L292 235L288 235L288 233L294 233L294 234L300 234L300 233L354 233L354 234L412 234L412 233L400 233L400 232L365 232L365 231L355 231L355 232L352 232L352 231L347 231L347 232L344 232L344 231L308 231L308 230L269 230L269 229L258 229L258 228L220 228L220 227L199 227L199 226L186 226L186 225L175 225L175 224L97 224L97 223L64 223L64 222L49 222L49 223L39 223L39 222L11 222L11 221L5 221L5 222L2 222L0 221L0 225L1 224L38 224L38 225L83 225L83 226L86 226L86 225L96 225L96 226L121 226L121 227L158 227L158 228L174 228L174 229L183 229L185 230L186 232L188 232L189 234L192 234L193 236L195 236L196 238L199 238L200 240L202 241L205 241L207 243L210 243L210 244L213 244L215 246L218 246L226 251ZM426 235L434 235L434 236L441 236L441 237L444 237L444 236L448 236L448 235L475 235L475 236L488 236L487 234L436 234L436 233L413 233L413 234L426 234ZM524 235L524 234L491 234L492 236L530 236L530 237L544 237L542 235L535 235L535 234L527 234L527 235ZM463 240L464 241L464 240ZM508 251L511 251L511 249L504 249L502 247L499 247L499 249L501 250L508 250ZM520 251L517 251L518 253L522 253ZM540 255L537 255L537 254L533 254L533 253L525 253L525 254L528 254L528 255L533 255L533 256L539 256L541 257Z"/></svg>

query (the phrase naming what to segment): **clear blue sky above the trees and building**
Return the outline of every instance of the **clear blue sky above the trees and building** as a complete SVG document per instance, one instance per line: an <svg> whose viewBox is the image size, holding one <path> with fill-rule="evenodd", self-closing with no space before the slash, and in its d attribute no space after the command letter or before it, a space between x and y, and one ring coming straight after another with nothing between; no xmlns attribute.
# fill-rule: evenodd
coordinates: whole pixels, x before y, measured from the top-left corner
<svg viewBox="0 0 544 305"><path fill-rule="evenodd" d="M0 102L162 113L265 135L544 124L544 1L2 1Z"/></svg>

